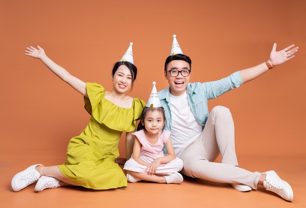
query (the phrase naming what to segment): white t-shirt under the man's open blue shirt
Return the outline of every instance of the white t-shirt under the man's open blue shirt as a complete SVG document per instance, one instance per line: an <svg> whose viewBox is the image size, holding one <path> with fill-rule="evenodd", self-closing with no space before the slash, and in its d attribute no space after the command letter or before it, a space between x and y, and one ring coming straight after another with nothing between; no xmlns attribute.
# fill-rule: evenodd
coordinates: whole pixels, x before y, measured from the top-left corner
<svg viewBox="0 0 306 208"><path fill-rule="evenodd" d="M175 153L180 151L202 132L203 127L192 114L187 100L187 93L174 96L170 94L172 116L171 141Z"/></svg>

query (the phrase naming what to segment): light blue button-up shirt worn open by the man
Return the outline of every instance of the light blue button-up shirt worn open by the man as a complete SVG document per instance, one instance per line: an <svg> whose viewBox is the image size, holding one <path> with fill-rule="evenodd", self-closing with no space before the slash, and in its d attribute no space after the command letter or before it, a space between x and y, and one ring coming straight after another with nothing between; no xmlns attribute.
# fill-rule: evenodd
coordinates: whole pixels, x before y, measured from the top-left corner
<svg viewBox="0 0 306 208"><path fill-rule="evenodd" d="M218 81L210 82L194 82L187 85L187 99L190 109L197 119L197 122L203 127L207 121L209 111L207 101L216 98L234 88L238 88L243 84L240 71L231 74ZM165 109L166 125L165 130L171 131L171 110L170 110L170 87L158 92L161 106Z"/></svg>

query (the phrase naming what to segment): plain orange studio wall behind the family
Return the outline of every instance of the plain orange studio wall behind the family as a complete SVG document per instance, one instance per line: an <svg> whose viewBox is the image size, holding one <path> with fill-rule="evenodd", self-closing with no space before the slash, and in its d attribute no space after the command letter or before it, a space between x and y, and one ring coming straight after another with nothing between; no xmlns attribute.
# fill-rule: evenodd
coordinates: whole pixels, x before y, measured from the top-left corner
<svg viewBox="0 0 306 208"><path fill-rule="evenodd" d="M26 47L40 45L72 75L109 90L112 66L133 42L139 71L130 95L147 101L152 81L158 91L168 86L173 34L193 61L191 82L262 63L274 42L299 46L294 59L209 107L231 110L238 156L305 158L305 11L302 0L0 0L1 169L10 167L10 178L38 158L64 163L69 139L89 120L83 97Z"/></svg>

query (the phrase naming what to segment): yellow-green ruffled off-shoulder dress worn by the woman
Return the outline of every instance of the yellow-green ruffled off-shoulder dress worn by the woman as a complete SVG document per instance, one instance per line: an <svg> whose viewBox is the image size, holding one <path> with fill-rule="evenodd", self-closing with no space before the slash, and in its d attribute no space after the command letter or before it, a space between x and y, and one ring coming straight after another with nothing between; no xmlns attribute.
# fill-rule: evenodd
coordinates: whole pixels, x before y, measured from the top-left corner
<svg viewBox="0 0 306 208"><path fill-rule="evenodd" d="M136 127L146 103L133 98L131 108L121 108L105 98L105 89L96 83L86 83L88 98L85 109L91 114L89 123L79 136L73 137L67 148L67 162L59 169L69 180L88 189L124 189L127 178L115 163L119 156L122 132Z"/></svg>

